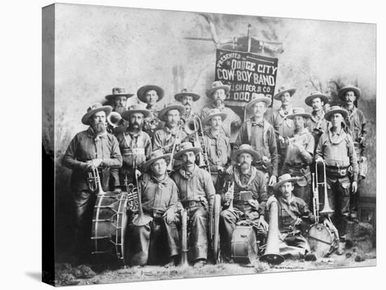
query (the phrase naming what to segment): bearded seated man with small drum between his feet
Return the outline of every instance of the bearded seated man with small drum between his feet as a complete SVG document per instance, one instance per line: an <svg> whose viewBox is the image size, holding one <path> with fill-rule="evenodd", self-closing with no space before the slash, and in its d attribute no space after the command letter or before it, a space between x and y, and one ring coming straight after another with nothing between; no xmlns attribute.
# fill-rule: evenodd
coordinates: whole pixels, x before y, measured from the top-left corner
<svg viewBox="0 0 386 290"><path fill-rule="evenodd" d="M253 160L259 158L251 145L241 144L239 150L234 151L233 159L237 165L232 174L226 174L220 182L223 185L221 193L222 203L229 206L233 202L233 209L220 212L220 241L224 257L229 260L231 255L231 241L234 228L241 219L251 222L260 233L267 231L267 223L260 220L264 214L265 202L268 199L267 181L265 175L252 166ZM234 186L234 192L228 191L229 185Z"/></svg>

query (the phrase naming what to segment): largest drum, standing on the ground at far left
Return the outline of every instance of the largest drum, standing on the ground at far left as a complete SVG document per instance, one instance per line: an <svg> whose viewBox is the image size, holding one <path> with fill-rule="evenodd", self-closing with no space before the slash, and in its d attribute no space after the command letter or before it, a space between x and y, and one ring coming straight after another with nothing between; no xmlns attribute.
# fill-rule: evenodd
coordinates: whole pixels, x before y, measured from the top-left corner
<svg viewBox="0 0 386 290"><path fill-rule="evenodd" d="M107 192L97 195L91 232L92 254L117 259L121 265L127 265L128 261L125 244L127 203L127 193Z"/></svg>

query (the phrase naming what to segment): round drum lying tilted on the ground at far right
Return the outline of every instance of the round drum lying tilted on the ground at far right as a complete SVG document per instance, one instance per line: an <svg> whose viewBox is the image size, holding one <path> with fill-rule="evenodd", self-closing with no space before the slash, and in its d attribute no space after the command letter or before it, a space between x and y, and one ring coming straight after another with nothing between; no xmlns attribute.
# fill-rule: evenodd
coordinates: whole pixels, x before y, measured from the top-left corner
<svg viewBox="0 0 386 290"><path fill-rule="evenodd" d="M310 227L307 239L311 250L321 258L331 254L335 247L335 236L321 223L315 223Z"/></svg>

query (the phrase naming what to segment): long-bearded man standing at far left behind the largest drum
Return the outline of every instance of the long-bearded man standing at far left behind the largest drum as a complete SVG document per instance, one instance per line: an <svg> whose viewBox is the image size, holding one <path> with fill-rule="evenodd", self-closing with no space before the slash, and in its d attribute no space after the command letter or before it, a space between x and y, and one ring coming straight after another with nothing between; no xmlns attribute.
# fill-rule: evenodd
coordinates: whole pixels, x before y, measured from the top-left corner
<svg viewBox="0 0 386 290"><path fill-rule="evenodd" d="M106 132L106 117L111 106L93 104L84 114L81 122L88 129L79 132L69 143L62 158L62 165L72 170L70 188L75 207L75 239L78 254L86 258L91 253L91 219L95 205L95 194L88 186L88 174L98 170L102 188L107 191L110 168L122 165L117 138ZM82 258L82 257L80 257Z"/></svg>

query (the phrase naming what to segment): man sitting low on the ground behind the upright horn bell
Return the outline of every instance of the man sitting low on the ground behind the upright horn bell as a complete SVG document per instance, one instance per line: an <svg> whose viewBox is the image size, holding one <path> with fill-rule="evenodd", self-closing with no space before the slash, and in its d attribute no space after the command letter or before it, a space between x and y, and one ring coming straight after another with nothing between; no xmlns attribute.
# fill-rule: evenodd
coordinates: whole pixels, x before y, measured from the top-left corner
<svg viewBox="0 0 386 290"><path fill-rule="evenodd" d="M306 203L301 198L293 195L293 183L297 182L298 178L291 177L290 174L283 174L279 177L279 182L275 184L274 189L279 190L279 198L277 205L279 207L279 231L280 231L280 254L284 258L301 259L306 261L315 261L317 256L311 251L310 244L302 236L300 224L302 219L308 219L310 223L315 222L315 216L310 212ZM274 196L270 197L266 203L265 216L269 216L269 206L275 200ZM262 219L265 219L263 215ZM324 226L335 229L333 224L324 219Z"/></svg>

